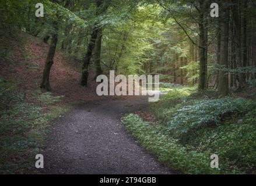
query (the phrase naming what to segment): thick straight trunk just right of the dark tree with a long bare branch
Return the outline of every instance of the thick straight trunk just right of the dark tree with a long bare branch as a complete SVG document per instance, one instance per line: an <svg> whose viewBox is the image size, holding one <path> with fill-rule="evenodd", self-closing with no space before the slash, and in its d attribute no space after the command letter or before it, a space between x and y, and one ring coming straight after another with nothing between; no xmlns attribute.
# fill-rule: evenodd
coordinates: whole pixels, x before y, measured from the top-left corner
<svg viewBox="0 0 256 186"><path fill-rule="evenodd" d="M229 9L223 8L222 20L220 21L220 66L227 68L229 64ZM229 75L225 70L219 70L219 94L229 94Z"/></svg>

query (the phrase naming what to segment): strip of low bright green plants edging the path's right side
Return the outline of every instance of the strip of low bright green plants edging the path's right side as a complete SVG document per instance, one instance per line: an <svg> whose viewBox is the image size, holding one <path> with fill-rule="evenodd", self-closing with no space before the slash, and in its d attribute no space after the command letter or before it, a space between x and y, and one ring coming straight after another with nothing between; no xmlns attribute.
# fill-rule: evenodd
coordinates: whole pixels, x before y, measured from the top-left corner
<svg viewBox="0 0 256 186"><path fill-rule="evenodd" d="M161 128L143 121L138 115L122 118L122 123L132 136L141 142L143 147L153 152L160 162L166 163L171 169L188 174L219 174L221 171L209 166L210 154L187 151L177 140L164 135Z"/></svg>

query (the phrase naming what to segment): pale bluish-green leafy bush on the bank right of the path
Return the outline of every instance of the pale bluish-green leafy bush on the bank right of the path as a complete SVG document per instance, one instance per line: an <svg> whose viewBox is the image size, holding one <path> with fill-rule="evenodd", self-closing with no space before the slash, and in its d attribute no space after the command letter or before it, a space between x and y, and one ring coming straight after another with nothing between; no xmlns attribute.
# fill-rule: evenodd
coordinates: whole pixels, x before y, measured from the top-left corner
<svg viewBox="0 0 256 186"><path fill-rule="evenodd" d="M202 126L218 126L226 116L246 112L254 103L244 98L221 98L196 101L192 105L170 109L169 130L177 137Z"/></svg>

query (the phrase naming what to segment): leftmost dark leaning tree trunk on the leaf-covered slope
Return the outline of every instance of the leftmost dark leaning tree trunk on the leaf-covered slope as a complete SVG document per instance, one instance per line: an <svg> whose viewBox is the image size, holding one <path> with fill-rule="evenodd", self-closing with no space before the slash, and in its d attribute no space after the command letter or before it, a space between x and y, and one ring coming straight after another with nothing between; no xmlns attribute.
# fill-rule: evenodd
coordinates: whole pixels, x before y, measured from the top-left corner
<svg viewBox="0 0 256 186"><path fill-rule="evenodd" d="M56 33L52 34L50 49L49 49L49 52L47 55L47 59L45 61L45 65L44 65L43 80L42 80L42 83L40 86L41 88L44 88L47 91L51 91L50 71L51 71L51 67L54 62L53 60L54 60L57 42L58 42L57 34Z"/></svg>

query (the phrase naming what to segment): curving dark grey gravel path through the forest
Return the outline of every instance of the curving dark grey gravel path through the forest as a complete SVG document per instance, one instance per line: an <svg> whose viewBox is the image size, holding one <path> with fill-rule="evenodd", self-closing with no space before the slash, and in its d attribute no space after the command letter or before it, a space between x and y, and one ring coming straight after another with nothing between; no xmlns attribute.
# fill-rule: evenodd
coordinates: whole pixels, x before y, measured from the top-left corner
<svg viewBox="0 0 256 186"><path fill-rule="evenodd" d="M125 131L121 116L143 110L147 97L93 101L55 122L43 174L172 174Z"/></svg>

